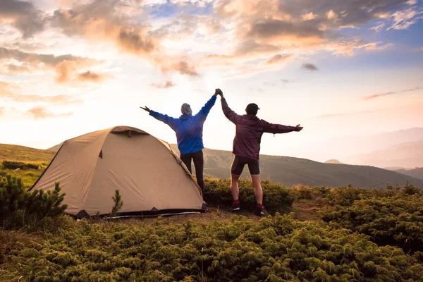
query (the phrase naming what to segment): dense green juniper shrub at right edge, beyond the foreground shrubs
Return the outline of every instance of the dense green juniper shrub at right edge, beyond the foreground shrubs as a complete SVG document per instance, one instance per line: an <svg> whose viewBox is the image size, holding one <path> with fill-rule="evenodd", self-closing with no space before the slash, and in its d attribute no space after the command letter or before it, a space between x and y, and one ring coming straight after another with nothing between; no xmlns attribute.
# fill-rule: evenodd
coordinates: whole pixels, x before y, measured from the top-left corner
<svg viewBox="0 0 423 282"><path fill-rule="evenodd" d="M346 195L343 201L340 195ZM382 190L334 189L329 198L342 205L324 215L324 221L370 235L379 245L423 251L423 196L418 188L406 185Z"/></svg>

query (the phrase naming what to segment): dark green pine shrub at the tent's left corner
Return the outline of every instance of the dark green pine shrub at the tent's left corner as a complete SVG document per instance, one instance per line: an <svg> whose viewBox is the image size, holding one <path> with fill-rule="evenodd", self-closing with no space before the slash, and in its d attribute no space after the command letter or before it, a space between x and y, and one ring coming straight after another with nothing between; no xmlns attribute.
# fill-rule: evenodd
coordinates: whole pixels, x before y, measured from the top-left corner
<svg viewBox="0 0 423 282"><path fill-rule="evenodd" d="M22 227L61 214L67 205L61 204L65 194L60 191L59 183L53 191L29 192L20 178L11 175L0 178L0 223L4 228Z"/></svg>

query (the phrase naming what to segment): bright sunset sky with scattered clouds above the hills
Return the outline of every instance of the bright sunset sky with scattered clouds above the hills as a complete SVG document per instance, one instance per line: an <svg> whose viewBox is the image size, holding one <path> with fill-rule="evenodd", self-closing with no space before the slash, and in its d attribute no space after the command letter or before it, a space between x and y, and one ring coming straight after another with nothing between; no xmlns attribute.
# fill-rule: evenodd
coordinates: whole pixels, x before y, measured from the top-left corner
<svg viewBox="0 0 423 282"><path fill-rule="evenodd" d="M238 114L304 126L262 154L325 161L334 138L423 127L422 70L423 0L1 0L0 143L116 125L175 143L140 106L177 118L220 88ZM220 98L203 135L231 150Z"/></svg>

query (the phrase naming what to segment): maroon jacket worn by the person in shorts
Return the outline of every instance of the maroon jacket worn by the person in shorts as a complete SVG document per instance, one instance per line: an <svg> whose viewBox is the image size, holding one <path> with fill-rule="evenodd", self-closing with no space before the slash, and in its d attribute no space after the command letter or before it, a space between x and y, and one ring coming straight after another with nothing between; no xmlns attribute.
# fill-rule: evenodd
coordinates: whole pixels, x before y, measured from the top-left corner
<svg viewBox="0 0 423 282"><path fill-rule="evenodd" d="M250 159L259 159L260 142L263 133L289 133L295 126L268 123L257 116L245 114L240 116L232 111L225 98L221 99L223 114L236 125L233 140L233 154Z"/></svg>

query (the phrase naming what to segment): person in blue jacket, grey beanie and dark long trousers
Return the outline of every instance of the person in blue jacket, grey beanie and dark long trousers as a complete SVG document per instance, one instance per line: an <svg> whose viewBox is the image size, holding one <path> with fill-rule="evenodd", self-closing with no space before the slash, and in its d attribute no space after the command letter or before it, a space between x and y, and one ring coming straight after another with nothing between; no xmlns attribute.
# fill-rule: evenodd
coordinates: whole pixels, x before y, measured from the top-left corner
<svg viewBox="0 0 423 282"><path fill-rule="evenodd" d="M216 102L216 97L217 91L195 116L192 116L191 106L186 103L180 107L182 115L179 118L171 118L170 116L159 114L157 111L150 110L147 106L144 108L142 106L140 107L148 111L150 116L169 125L176 132L180 159L187 166L190 173L192 173L191 160L194 162L197 183L203 195L204 157L202 149L204 149L204 145L202 141L202 130L204 121L206 121L207 115Z"/></svg>

